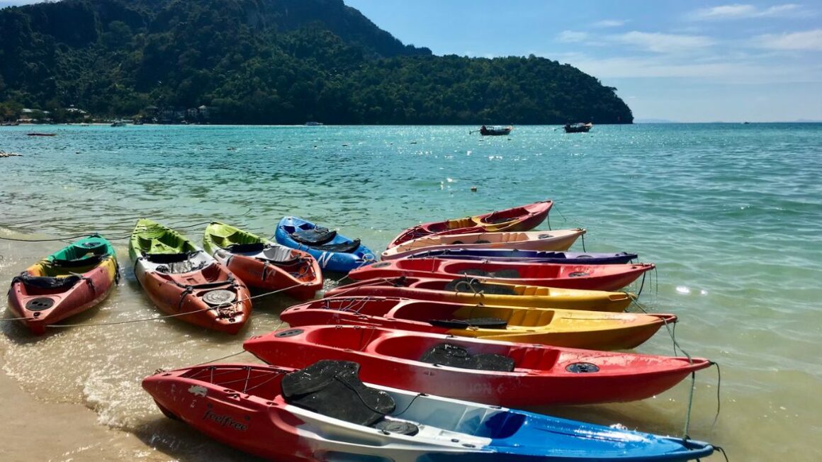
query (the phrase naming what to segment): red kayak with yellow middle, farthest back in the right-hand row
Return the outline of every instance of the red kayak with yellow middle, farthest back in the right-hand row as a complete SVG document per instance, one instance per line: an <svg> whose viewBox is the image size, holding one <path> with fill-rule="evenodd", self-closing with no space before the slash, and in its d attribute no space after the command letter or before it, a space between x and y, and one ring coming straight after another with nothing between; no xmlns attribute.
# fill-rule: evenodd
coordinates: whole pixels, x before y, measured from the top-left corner
<svg viewBox="0 0 822 462"><path fill-rule="evenodd" d="M388 248L431 234L496 233L499 231L529 231L536 228L551 210L552 201L538 201L526 206L498 210L484 215L432 221L406 229L394 238Z"/></svg>

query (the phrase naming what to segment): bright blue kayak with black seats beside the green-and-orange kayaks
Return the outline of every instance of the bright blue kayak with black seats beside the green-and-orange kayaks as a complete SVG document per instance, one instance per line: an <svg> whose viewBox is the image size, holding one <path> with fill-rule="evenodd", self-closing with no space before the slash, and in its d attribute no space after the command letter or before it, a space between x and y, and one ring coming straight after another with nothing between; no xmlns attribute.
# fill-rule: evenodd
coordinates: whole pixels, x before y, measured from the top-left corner
<svg viewBox="0 0 822 462"><path fill-rule="evenodd" d="M348 273L376 261L374 252L359 239L346 238L296 216L279 220L274 238L285 247L310 253L323 270Z"/></svg>

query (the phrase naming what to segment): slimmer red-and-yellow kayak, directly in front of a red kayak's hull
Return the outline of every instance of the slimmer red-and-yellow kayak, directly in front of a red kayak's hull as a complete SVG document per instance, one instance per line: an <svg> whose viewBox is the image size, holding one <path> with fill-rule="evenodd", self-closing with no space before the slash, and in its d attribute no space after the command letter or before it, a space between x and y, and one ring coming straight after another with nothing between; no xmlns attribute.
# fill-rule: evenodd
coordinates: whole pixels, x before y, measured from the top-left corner
<svg viewBox="0 0 822 462"><path fill-rule="evenodd" d="M506 284L483 278L456 280L399 276L357 281L326 291L326 297L402 297L496 307L561 308L622 312L636 298L625 292Z"/></svg>

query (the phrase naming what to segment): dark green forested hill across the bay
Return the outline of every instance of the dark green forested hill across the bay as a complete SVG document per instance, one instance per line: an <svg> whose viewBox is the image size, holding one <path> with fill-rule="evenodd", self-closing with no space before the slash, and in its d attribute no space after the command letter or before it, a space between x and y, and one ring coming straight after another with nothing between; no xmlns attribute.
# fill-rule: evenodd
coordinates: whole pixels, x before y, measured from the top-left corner
<svg viewBox="0 0 822 462"><path fill-rule="evenodd" d="M0 10L0 104L210 122L630 123L611 87L544 58L433 56L342 0L63 0Z"/></svg>

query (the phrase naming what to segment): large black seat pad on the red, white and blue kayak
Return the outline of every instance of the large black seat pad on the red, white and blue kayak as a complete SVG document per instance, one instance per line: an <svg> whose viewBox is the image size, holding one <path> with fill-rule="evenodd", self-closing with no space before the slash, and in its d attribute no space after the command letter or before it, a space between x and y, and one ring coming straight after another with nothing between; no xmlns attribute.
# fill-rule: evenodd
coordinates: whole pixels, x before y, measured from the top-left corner
<svg viewBox="0 0 822 462"><path fill-rule="evenodd" d="M302 409L371 426L394 412L388 393L365 386L358 377L359 364L324 359L283 377L283 399Z"/></svg>

